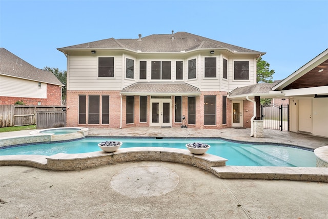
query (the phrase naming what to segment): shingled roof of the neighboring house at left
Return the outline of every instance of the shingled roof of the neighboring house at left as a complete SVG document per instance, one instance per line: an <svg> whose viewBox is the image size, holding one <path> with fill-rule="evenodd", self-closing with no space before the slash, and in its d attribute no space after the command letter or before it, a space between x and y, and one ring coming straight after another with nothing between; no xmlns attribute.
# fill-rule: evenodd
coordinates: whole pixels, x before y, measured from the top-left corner
<svg viewBox="0 0 328 219"><path fill-rule="evenodd" d="M64 86L52 72L35 68L5 48L0 48L0 59L0 74L2 75Z"/></svg>

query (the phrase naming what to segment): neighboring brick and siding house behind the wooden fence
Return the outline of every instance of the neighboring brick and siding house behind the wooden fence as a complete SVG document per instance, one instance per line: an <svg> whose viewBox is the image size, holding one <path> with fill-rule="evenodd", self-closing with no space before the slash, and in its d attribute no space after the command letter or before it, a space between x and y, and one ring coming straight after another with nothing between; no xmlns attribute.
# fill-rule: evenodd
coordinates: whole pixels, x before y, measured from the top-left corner
<svg viewBox="0 0 328 219"><path fill-rule="evenodd" d="M0 58L0 105L61 106L64 85L52 72L35 68L5 48L0 48Z"/></svg>

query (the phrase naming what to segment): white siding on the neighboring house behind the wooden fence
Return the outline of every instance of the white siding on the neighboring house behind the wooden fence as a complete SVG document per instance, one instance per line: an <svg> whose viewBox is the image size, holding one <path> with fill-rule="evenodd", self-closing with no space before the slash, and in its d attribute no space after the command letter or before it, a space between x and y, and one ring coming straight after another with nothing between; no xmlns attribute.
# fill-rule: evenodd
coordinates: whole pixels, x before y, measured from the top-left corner
<svg viewBox="0 0 328 219"><path fill-rule="evenodd" d="M47 84L0 75L0 96L47 98Z"/></svg>

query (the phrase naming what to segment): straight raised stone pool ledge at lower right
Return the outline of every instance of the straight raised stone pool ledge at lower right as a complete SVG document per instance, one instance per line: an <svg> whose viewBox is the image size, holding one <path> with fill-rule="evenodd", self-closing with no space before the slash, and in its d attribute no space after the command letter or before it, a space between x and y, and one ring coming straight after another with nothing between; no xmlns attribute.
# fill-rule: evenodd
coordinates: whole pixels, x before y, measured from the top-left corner
<svg viewBox="0 0 328 219"><path fill-rule="evenodd" d="M293 180L328 183L326 167L248 167L223 166L211 167L212 173L220 178Z"/></svg>

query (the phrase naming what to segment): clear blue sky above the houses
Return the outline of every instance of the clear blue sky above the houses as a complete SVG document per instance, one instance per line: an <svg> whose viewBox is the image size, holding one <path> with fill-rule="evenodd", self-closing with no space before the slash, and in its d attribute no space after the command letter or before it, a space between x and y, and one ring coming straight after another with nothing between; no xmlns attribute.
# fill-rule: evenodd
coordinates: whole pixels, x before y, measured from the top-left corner
<svg viewBox="0 0 328 219"><path fill-rule="evenodd" d="M283 79L328 48L328 1L0 0L0 47L66 70L57 48L185 31L266 52Z"/></svg>

